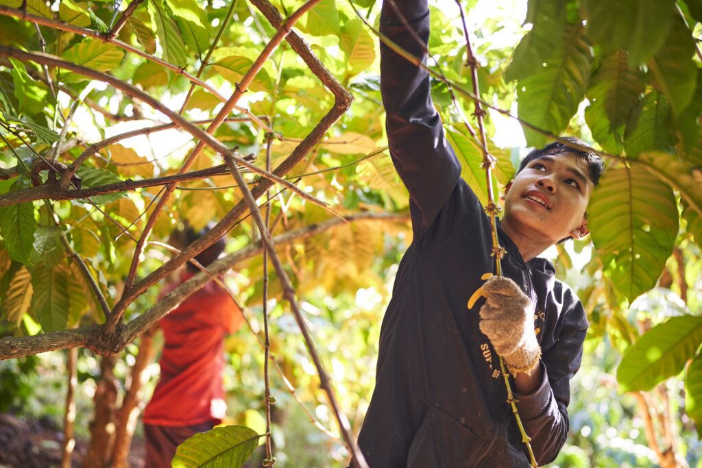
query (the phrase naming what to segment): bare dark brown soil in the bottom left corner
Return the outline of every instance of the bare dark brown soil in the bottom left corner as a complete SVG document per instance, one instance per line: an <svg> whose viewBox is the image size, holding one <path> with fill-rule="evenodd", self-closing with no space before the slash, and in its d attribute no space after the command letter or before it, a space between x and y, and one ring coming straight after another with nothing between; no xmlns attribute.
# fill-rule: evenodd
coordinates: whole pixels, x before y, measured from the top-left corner
<svg viewBox="0 0 702 468"><path fill-rule="evenodd" d="M63 433L48 418L20 419L0 414L0 468L53 468L61 466ZM78 439L73 450L73 467L81 467L87 449ZM143 468L145 448L142 439L132 441L129 466Z"/></svg>

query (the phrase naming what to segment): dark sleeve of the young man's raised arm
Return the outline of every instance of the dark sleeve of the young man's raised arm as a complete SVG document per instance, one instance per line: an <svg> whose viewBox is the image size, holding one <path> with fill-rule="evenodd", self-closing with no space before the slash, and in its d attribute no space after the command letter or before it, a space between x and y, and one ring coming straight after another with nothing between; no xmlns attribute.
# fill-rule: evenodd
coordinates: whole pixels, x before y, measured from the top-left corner
<svg viewBox="0 0 702 468"><path fill-rule="evenodd" d="M416 35L408 31L393 3ZM383 1L380 32L426 64L427 0ZM409 190L413 229L415 236L420 236L456 187L461 165L444 138L442 122L430 96L428 72L402 58L382 41L380 91L385 105L390 155Z"/></svg>

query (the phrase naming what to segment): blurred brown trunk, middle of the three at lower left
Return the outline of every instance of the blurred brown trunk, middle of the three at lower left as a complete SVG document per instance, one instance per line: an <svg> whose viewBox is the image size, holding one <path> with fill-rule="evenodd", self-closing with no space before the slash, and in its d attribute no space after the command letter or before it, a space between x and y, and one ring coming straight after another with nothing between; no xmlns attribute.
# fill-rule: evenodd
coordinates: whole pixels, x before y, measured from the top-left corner
<svg viewBox="0 0 702 468"><path fill-rule="evenodd" d="M114 365L117 355L102 356L100 379L95 389L95 417L90 423L91 439L83 460L84 468L105 468L114 443L114 407L117 401L117 379Z"/></svg>

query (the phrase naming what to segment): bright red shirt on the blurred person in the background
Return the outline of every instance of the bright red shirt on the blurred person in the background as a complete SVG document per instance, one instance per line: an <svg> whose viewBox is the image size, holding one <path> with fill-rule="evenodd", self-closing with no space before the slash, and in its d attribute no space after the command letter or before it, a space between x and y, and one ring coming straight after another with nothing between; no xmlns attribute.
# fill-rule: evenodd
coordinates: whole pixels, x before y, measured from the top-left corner
<svg viewBox="0 0 702 468"><path fill-rule="evenodd" d="M191 276L181 274L181 283ZM243 320L232 298L210 281L159 321L164 330L161 378L144 410L146 424L221 422L227 409L222 385L224 336L234 333Z"/></svg>

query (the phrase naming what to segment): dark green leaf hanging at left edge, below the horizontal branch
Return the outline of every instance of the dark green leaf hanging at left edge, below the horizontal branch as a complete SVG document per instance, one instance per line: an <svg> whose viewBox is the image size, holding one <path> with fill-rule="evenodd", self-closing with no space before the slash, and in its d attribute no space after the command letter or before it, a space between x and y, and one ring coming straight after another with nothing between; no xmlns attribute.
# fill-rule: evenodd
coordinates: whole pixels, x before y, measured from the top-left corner
<svg viewBox="0 0 702 468"><path fill-rule="evenodd" d="M0 235L5 239L5 246L13 260L29 265L36 228L31 201L0 208Z"/></svg>

